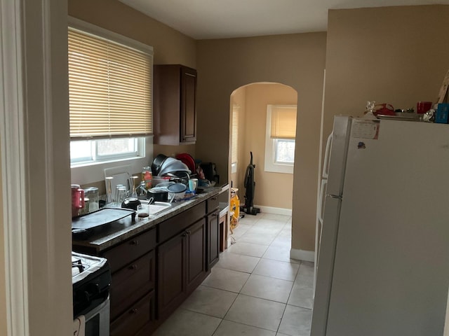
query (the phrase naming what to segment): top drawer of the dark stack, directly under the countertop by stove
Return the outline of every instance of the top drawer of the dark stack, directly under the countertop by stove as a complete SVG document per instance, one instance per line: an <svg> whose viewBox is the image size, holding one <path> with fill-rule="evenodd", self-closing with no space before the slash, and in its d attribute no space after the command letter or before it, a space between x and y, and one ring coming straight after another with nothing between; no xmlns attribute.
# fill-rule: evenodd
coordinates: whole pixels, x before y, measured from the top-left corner
<svg viewBox="0 0 449 336"><path fill-rule="evenodd" d="M156 229L152 229L127 241L123 241L120 245L103 253L103 256L109 261L111 272L114 273L155 247Z"/></svg>

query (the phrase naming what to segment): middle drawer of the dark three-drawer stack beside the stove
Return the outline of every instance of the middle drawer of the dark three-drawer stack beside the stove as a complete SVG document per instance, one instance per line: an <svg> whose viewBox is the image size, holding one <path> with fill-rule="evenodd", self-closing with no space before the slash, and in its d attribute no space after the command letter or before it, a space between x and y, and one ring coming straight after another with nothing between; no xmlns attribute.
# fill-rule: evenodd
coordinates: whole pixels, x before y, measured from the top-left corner
<svg viewBox="0 0 449 336"><path fill-rule="evenodd" d="M111 320L154 289L154 250L112 275Z"/></svg>

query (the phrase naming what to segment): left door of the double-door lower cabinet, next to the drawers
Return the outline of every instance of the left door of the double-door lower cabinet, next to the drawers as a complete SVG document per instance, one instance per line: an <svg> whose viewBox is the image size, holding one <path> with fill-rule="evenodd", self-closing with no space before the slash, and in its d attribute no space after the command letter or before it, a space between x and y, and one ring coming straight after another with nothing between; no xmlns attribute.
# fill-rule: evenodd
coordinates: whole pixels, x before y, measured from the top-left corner
<svg viewBox="0 0 449 336"><path fill-rule="evenodd" d="M166 318L185 299L187 233L158 248L158 317Z"/></svg>

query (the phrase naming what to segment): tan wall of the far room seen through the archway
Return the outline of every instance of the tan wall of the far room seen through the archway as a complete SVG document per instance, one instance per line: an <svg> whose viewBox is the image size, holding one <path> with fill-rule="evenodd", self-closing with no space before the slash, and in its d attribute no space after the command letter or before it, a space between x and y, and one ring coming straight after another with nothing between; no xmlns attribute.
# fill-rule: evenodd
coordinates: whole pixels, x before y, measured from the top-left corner
<svg viewBox="0 0 449 336"><path fill-rule="evenodd" d="M297 93L291 87L281 84L251 84L236 90L245 90L244 122L241 125L239 141L238 182L239 197L246 193L243 187L246 167L253 152L255 167L254 204L263 207L292 209L293 174L264 172L265 133L267 127L268 104L297 104ZM235 93L234 93L235 94Z"/></svg>

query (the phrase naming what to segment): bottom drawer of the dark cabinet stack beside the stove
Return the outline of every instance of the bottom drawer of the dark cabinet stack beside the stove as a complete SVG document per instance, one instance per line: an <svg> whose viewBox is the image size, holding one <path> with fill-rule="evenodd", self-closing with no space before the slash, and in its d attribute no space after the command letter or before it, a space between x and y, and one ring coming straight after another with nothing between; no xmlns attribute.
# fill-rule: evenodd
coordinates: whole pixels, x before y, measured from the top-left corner
<svg viewBox="0 0 449 336"><path fill-rule="evenodd" d="M154 290L133 304L111 323L110 336L135 335L147 323L154 320Z"/></svg>

